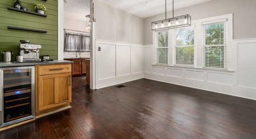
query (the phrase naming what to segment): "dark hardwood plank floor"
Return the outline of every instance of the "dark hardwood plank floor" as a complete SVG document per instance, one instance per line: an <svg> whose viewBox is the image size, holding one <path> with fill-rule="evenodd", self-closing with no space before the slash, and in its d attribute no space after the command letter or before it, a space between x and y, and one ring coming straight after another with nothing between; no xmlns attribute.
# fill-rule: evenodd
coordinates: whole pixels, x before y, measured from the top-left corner
<svg viewBox="0 0 256 139"><path fill-rule="evenodd" d="M122 85L92 91L72 77L72 109L0 139L256 139L254 100L149 79Z"/></svg>

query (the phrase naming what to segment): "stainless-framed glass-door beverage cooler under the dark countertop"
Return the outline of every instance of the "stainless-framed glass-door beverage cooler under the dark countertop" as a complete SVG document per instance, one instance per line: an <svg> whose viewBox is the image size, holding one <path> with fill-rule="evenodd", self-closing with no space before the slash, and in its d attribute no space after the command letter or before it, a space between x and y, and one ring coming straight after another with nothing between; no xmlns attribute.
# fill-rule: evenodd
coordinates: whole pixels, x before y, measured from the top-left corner
<svg viewBox="0 0 256 139"><path fill-rule="evenodd" d="M35 116L34 66L0 68L0 127Z"/></svg>

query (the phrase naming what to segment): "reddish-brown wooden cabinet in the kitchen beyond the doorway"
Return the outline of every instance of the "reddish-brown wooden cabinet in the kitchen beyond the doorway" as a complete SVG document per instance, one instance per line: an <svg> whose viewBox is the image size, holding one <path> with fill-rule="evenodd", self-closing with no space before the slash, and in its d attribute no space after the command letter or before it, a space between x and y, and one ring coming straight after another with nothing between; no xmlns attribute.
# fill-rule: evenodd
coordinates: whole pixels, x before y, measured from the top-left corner
<svg viewBox="0 0 256 139"><path fill-rule="evenodd" d="M74 62L72 64L72 75L84 75L86 74L86 60L81 59L64 59Z"/></svg>

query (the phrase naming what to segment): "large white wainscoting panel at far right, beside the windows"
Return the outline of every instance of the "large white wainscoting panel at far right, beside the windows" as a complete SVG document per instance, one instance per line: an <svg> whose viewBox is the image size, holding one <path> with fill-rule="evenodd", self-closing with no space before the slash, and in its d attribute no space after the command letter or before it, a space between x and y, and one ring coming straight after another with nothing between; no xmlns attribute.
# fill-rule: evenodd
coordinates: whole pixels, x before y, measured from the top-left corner
<svg viewBox="0 0 256 139"><path fill-rule="evenodd" d="M256 88L256 43L238 44L238 86Z"/></svg>

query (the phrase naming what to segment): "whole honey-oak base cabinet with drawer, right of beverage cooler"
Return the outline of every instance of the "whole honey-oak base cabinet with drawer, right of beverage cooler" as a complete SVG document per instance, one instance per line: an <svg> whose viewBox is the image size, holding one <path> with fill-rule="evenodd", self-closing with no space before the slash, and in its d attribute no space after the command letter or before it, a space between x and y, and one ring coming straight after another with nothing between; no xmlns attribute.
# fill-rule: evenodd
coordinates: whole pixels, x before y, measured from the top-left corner
<svg viewBox="0 0 256 139"><path fill-rule="evenodd" d="M36 66L36 115L71 102L71 64Z"/></svg>

